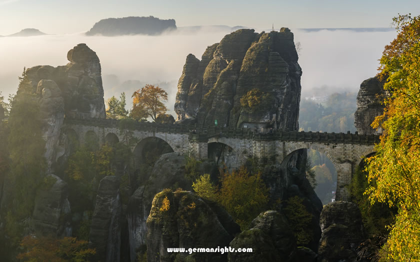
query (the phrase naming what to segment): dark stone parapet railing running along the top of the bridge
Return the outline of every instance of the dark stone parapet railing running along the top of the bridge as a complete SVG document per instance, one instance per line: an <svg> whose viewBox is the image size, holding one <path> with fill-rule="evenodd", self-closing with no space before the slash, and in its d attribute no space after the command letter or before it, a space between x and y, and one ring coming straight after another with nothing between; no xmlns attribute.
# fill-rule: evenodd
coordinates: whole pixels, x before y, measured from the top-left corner
<svg viewBox="0 0 420 262"><path fill-rule="evenodd" d="M188 134L190 140L206 141L211 137L230 137L253 140L281 140L281 141L307 141L323 143L344 144L375 144L379 142L378 135L359 135L348 131L347 133L327 132L298 132L286 130L273 130L271 133L260 133L251 128L232 127L199 127L185 124L159 124L150 122L138 122L133 120L116 119L74 119L66 117L65 123L81 124L87 126L110 127L120 129L132 129L150 132L183 133Z"/></svg>

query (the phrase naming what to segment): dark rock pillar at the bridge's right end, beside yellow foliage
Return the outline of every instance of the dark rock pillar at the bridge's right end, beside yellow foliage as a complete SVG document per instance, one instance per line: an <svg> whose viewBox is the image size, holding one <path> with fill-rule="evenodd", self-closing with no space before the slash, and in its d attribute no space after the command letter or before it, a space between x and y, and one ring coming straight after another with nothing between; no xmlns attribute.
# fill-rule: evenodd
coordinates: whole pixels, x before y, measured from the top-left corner
<svg viewBox="0 0 420 262"><path fill-rule="evenodd" d="M383 101L387 92L383 90L383 83L376 77L364 80L357 93L357 110L354 113L354 125L359 134L379 134L381 129L374 130L370 124L376 116L383 113Z"/></svg>

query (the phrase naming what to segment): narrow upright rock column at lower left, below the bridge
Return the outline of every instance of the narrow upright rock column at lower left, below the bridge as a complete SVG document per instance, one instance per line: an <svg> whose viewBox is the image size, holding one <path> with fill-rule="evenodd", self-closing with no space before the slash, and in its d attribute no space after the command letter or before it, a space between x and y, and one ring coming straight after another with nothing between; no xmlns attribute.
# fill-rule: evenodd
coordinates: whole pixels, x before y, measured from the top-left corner
<svg viewBox="0 0 420 262"><path fill-rule="evenodd" d="M100 183L89 233L89 247L96 249L96 261L119 262L121 244L121 201L116 176Z"/></svg>

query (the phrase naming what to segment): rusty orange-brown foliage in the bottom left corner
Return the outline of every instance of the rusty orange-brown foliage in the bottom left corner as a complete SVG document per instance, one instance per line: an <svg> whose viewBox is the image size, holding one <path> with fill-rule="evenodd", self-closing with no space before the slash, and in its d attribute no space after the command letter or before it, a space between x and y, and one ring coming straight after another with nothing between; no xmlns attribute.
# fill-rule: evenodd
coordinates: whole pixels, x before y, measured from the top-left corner
<svg viewBox="0 0 420 262"><path fill-rule="evenodd" d="M17 259L27 262L85 262L90 261L96 253L89 249L88 242L76 238L33 238L25 237L21 244L24 252Z"/></svg>

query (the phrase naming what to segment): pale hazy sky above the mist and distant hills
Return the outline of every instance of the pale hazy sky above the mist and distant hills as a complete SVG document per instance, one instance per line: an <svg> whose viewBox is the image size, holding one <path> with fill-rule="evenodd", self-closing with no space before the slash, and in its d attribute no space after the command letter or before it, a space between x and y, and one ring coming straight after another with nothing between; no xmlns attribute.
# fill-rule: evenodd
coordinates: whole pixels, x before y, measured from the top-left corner
<svg viewBox="0 0 420 262"><path fill-rule="evenodd" d="M149 15L177 26L389 27L398 13L419 11L419 0L0 0L0 35L84 32L103 18Z"/></svg>

